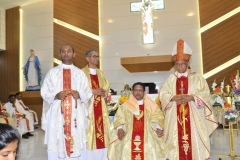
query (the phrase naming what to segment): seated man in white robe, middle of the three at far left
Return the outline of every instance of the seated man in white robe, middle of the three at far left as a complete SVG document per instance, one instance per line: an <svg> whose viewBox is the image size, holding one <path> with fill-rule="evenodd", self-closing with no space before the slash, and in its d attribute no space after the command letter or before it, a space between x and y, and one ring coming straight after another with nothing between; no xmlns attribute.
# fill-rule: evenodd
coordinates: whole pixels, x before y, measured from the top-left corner
<svg viewBox="0 0 240 160"><path fill-rule="evenodd" d="M10 117L15 119L16 125L17 125L17 130L18 130L19 134L23 134L22 138L28 139L29 134L27 134L27 133L31 131L30 123L29 123L28 118L26 118L26 115L20 113L17 110L17 107L15 105L15 99L16 99L15 95L10 94L9 95L9 102L7 102L4 105L4 107L6 108Z"/></svg>

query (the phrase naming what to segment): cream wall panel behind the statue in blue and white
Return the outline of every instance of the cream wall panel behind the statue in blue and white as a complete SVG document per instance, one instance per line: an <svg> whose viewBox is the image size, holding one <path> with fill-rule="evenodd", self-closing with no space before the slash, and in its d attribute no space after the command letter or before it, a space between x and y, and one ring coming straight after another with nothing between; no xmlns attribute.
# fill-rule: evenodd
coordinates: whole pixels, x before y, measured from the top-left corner
<svg viewBox="0 0 240 160"><path fill-rule="evenodd" d="M47 71L53 67L53 0L44 0L21 6L22 9L22 55L20 68L27 62L30 49L35 50L41 69L42 81ZM21 73L20 90L25 90L27 82Z"/></svg>

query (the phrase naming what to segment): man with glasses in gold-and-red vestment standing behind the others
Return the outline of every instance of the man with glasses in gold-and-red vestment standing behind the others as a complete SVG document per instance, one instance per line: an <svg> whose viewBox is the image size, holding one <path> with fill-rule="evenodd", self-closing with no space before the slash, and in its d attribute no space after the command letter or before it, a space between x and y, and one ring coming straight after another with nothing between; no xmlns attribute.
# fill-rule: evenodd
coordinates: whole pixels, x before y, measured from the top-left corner
<svg viewBox="0 0 240 160"><path fill-rule="evenodd" d="M108 95L110 83L97 68L99 53L92 49L86 52L88 65L82 69L88 78L93 97L89 103L89 126L87 130L87 159L107 160L110 121L105 97Z"/></svg>

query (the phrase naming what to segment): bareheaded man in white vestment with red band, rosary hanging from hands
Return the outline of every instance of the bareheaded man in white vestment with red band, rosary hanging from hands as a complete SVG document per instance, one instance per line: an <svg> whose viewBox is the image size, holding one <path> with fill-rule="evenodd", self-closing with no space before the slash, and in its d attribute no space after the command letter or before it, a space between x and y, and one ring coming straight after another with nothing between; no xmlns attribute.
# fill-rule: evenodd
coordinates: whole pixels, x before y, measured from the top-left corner
<svg viewBox="0 0 240 160"><path fill-rule="evenodd" d="M73 65L74 48L62 46L60 57L62 64L48 71L41 87L48 160L87 160L87 104L92 91L84 72Z"/></svg>

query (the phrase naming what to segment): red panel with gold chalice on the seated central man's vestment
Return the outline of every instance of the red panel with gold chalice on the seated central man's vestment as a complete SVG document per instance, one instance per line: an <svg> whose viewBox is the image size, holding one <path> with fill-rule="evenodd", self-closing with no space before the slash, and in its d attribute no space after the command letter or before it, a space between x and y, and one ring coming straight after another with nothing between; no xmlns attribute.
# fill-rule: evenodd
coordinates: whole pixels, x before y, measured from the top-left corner
<svg viewBox="0 0 240 160"><path fill-rule="evenodd" d="M133 115L132 160L144 160L144 105L139 110L139 115Z"/></svg>

